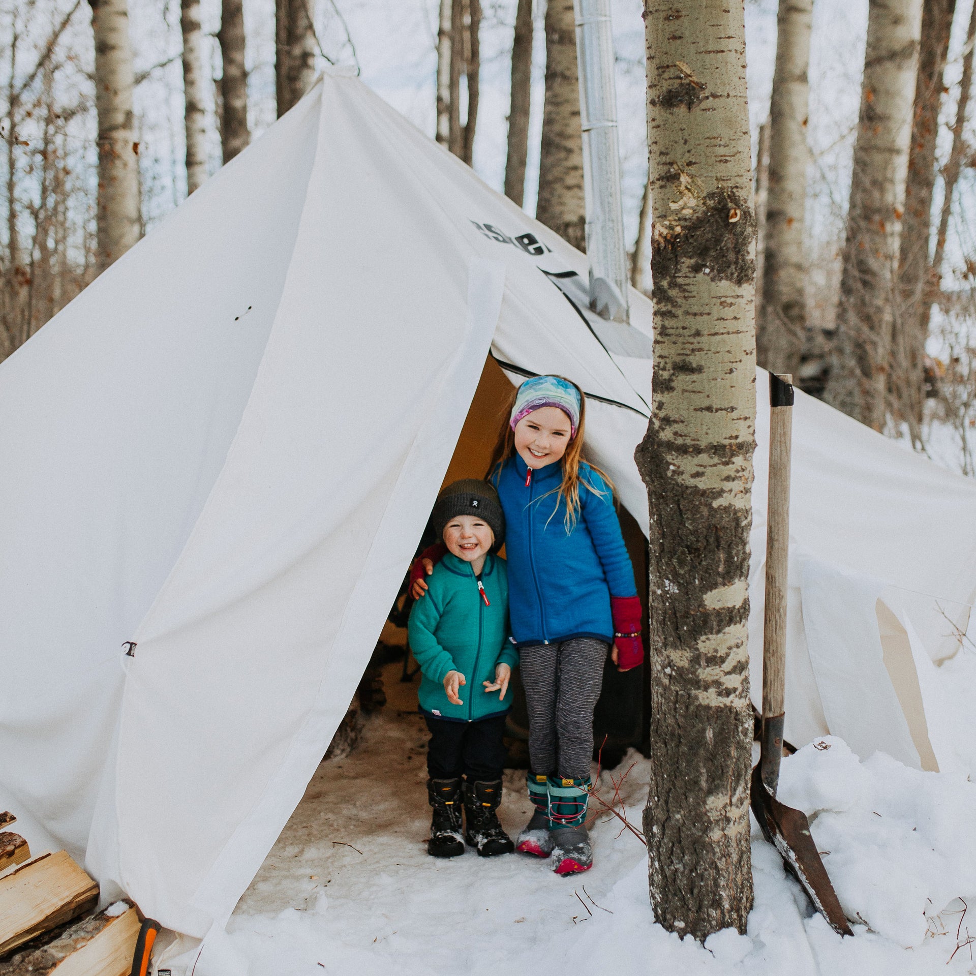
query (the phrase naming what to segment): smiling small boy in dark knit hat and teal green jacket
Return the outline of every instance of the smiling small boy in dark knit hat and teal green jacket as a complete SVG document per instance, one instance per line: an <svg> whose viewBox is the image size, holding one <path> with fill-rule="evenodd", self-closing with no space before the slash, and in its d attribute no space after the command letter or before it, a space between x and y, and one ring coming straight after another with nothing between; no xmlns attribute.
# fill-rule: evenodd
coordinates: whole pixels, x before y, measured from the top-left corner
<svg viewBox="0 0 976 976"><path fill-rule="evenodd" d="M508 640L507 567L495 553L505 541L505 515L490 484L466 479L441 491L430 521L448 551L409 623L410 648L422 674L420 707L430 732L427 796L433 816L427 852L456 857L467 840L482 857L508 854L514 845L496 811L508 679L518 651Z"/></svg>

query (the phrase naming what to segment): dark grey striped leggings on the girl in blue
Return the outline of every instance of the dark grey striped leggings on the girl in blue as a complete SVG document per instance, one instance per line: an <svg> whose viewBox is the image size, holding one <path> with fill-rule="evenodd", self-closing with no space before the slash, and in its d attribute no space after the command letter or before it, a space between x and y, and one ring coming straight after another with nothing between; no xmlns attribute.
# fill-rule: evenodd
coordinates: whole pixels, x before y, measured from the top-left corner
<svg viewBox="0 0 976 976"><path fill-rule="evenodd" d="M595 637L521 649L532 772L584 780L593 753L593 708L610 645Z"/></svg>

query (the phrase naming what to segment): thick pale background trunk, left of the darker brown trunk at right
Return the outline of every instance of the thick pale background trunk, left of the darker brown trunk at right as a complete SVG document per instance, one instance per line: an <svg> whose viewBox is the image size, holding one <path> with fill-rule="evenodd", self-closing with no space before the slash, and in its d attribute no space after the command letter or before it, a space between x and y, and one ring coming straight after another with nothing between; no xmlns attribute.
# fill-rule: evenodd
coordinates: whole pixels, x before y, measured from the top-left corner
<svg viewBox="0 0 976 976"><path fill-rule="evenodd" d="M870 0L840 300L826 399L875 430L888 407L920 0Z"/></svg>

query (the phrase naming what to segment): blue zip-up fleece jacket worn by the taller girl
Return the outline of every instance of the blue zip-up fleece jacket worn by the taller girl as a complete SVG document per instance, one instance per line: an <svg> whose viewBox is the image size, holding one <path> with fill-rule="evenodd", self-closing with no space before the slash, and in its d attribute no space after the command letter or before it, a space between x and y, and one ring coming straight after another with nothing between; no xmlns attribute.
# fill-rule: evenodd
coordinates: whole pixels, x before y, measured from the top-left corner
<svg viewBox="0 0 976 976"><path fill-rule="evenodd" d="M516 454L491 481L505 510L508 616L520 646L570 637L613 640L610 596L635 596L633 567L613 495L586 463L580 465L580 515L565 527L558 498L562 465L532 472Z"/></svg>

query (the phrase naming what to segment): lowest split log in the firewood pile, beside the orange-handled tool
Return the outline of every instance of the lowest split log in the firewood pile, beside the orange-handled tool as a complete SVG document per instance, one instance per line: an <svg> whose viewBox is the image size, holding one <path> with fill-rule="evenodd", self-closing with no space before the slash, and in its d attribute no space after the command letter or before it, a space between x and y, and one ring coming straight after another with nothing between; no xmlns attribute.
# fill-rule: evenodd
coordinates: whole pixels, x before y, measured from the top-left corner
<svg viewBox="0 0 976 976"><path fill-rule="evenodd" d="M84 918L57 938L15 953L0 962L0 976L129 976L140 921L136 909L123 904L119 915Z"/></svg>

